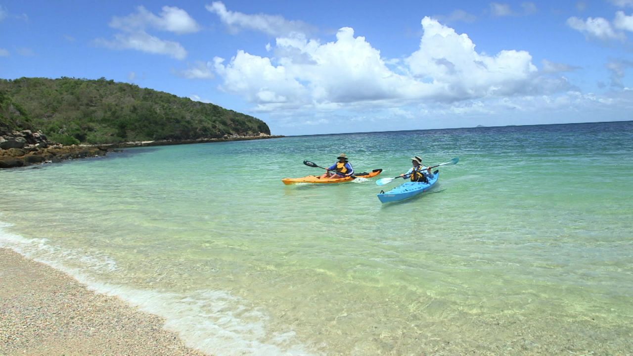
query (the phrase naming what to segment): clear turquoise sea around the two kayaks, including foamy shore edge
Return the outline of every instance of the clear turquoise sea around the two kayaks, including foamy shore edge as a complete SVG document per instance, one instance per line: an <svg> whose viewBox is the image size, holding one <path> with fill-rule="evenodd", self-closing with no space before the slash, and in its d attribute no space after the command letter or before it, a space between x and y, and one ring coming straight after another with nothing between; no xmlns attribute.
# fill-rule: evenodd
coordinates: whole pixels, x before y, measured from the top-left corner
<svg viewBox="0 0 633 356"><path fill-rule="evenodd" d="M440 168L380 204L357 172ZM0 171L0 246L217 355L633 350L633 122L128 149Z"/></svg>

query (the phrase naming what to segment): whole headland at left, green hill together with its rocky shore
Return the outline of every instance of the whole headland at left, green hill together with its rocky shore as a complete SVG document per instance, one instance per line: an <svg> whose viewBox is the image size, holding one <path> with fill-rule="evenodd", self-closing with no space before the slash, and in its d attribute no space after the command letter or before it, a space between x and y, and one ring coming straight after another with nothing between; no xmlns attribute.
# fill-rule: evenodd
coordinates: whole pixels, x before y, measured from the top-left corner
<svg viewBox="0 0 633 356"><path fill-rule="evenodd" d="M270 136L258 118L134 84L0 79L0 168L102 155L116 147L269 137L279 136Z"/></svg>

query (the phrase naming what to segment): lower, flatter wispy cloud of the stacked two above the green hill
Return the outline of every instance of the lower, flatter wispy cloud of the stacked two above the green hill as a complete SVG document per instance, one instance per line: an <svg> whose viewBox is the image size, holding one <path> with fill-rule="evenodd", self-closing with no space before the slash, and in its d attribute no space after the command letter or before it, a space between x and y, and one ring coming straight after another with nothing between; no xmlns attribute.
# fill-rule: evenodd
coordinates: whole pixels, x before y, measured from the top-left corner
<svg viewBox="0 0 633 356"><path fill-rule="evenodd" d="M165 41L145 32L115 34L113 41L97 39L95 43L110 49L136 49L147 53L166 54L179 60L187 56L187 51L178 42Z"/></svg>

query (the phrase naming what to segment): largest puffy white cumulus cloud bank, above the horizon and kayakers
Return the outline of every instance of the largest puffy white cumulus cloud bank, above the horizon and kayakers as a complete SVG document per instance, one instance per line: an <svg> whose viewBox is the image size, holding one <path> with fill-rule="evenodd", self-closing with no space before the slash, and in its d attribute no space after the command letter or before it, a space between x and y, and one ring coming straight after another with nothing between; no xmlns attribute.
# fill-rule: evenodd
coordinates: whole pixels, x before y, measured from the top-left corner
<svg viewBox="0 0 633 356"><path fill-rule="evenodd" d="M295 33L276 39L271 58L238 51L229 61L214 58L213 67L223 90L263 111L454 103L570 88L563 78L541 77L526 51L482 54L467 34L429 17L421 25L420 48L403 60L385 60L365 37L343 27L332 42Z"/></svg>

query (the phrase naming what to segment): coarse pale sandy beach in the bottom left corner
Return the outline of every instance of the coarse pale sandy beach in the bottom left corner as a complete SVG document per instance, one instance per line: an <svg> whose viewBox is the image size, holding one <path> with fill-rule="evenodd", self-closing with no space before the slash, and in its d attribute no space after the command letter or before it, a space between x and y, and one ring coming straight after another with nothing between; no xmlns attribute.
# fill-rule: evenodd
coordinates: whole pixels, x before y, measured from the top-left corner
<svg viewBox="0 0 633 356"><path fill-rule="evenodd" d="M163 319L0 248L0 355L204 355Z"/></svg>

